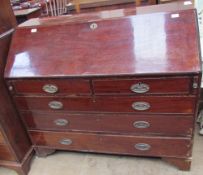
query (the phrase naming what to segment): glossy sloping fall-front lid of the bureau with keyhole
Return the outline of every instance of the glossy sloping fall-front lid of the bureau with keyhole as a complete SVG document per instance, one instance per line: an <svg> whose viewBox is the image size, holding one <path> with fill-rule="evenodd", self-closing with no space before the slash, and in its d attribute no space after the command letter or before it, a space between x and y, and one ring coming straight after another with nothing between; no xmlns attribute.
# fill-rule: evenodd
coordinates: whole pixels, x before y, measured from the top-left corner
<svg viewBox="0 0 203 175"><path fill-rule="evenodd" d="M194 9L79 23L59 20L16 30L5 77L199 73L199 52Z"/></svg>

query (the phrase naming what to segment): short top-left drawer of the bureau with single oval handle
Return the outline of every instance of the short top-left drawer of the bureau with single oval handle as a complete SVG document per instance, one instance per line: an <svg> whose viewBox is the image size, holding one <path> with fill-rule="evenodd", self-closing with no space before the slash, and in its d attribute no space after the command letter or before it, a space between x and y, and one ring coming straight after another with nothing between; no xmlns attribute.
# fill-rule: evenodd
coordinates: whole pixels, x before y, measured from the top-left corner
<svg viewBox="0 0 203 175"><path fill-rule="evenodd" d="M16 94L90 94L89 80L17 80L8 83Z"/></svg>

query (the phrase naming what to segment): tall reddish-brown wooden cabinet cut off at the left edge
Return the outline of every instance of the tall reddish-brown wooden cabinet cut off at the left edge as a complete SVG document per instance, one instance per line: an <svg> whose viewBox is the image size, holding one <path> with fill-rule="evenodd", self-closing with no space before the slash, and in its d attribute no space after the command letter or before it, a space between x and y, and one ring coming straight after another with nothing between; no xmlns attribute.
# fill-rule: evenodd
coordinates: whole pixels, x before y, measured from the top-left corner
<svg viewBox="0 0 203 175"><path fill-rule="evenodd" d="M16 27L9 0L2 0L0 6L0 166L9 167L25 175L29 164L24 164L31 143L24 126L13 106L4 81L4 68L10 46L11 34ZM3 139L3 140L2 140ZM23 165L25 168L22 168Z"/></svg>

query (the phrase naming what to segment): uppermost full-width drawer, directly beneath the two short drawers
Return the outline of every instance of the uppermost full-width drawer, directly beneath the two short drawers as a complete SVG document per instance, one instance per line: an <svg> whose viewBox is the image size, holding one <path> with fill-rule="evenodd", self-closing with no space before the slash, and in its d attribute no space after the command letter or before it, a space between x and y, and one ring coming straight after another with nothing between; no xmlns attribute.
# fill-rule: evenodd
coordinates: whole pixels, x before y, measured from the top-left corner
<svg viewBox="0 0 203 175"><path fill-rule="evenodd" d="M20 110L129 113L194 113L195 97L16 97Z"/></svg>

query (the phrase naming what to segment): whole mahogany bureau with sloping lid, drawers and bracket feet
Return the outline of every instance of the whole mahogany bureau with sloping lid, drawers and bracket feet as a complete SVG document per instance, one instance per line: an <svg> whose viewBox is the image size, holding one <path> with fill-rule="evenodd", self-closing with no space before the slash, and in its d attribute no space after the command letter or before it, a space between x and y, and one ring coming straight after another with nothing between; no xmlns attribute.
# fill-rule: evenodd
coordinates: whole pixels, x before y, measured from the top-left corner
<svg viewBox="0 0 203 175"><path fill-rule="evenodd" d="M201 81L196 11L135 11L16 30L5 79L39 156L154 156L189 170Z"/></svg>

